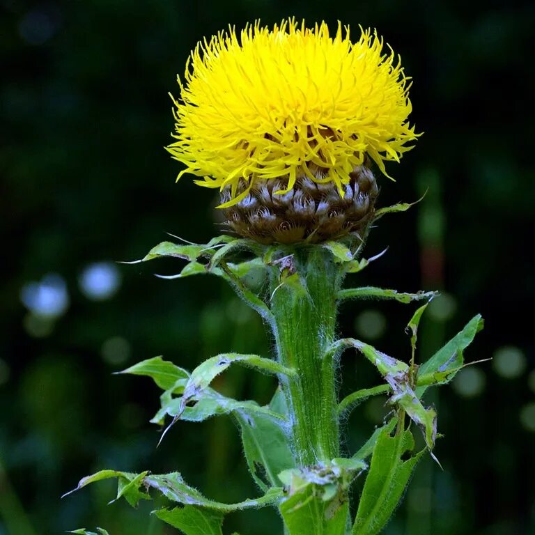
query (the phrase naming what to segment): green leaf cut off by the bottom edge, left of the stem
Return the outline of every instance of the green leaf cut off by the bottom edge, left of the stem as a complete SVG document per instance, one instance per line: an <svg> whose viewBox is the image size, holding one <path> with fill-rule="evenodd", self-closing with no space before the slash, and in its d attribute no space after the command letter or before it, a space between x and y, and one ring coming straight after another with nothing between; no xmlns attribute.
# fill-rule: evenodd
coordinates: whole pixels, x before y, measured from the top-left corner
<svg viewBox="0 0 535 535"><path fill-rule="evenodd" d="M175 509L158 509L153 513L180 529L185 535L222 535L223 514L206 511L193 505L175 507Z"/></svg>

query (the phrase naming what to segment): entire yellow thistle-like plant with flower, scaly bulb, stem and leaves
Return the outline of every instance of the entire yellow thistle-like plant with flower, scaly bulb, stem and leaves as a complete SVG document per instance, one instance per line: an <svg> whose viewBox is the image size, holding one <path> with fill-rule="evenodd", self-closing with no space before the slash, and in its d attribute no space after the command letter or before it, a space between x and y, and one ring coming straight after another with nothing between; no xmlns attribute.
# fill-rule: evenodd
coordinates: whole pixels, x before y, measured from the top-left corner
<svg viewBox="0 0 535 535"><path fill-rule="evenodd" d="M398 161L417 137L408 124L408 86L377 33L361 29L352 43L340 24L331 37L325 23L307 29L290 19L272 30L256 23L240 38L230 29L196 47L175 102L176 143L169 150L186 166L180 175L193 173L200 185L221 190L227 226L236 235L224 233L206 244L162 242L139 262L187 261L164 279L222 278L261 316L272 352L222 352L191 372L153 357L123 373L147 375L163 390L151 420L166 426L160 440L180 421L231 417L258 491L237 503L216 502L180 472L148 470L101 470L77 489L115 478L117 497L132 506L161 494L155 517L184 535L230 533L227 513L261 507L279 512L270 533L382 532L419 460L427 451L435 458L437 412L427 404L426 390L447 384L465 366L465 350L483 327L481 316L474 316L421 362L418 326L435 292L346 286L346 278L358 280L380 256L360 256L369 228L382 215L410 206L375 210L378 186L369 168L371 159L386 174L385 161ZM410 348L390 356L339 337L340 304L371 299L426 302L408 314ZM357 389L341 397L347 350L344 359L361 358L378 373L373 386L356 378ZM218 391L215 379L231 366L274 375L271 401L261 405ZM378 395L389 396L385 420L350 451L343 423ZM178 459L178 466L187 462ZM364 484L355 493L359 477ZM221 481L221 496L225 485ZM250 533L256 525L242 527ZM72 533L94 535L86 529Z"/></svg>

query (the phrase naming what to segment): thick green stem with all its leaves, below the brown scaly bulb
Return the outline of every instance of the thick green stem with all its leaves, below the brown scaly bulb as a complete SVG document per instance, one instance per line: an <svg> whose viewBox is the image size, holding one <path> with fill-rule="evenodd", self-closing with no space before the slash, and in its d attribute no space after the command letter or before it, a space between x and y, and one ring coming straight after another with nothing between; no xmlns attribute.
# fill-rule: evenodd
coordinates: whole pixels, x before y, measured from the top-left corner
<svg viewBox="0 0 535 535"><path fill-rule="evenodd" d="M407 210L408 204L383 208ZM426 451L433 455L436 412L422 402L428 387L449 382L464 364L463 350L483 327L475 316L424 364L416 364L419 321L434 292L399 293L377 287L343 288L348 274L362 271L362 240L348 237L321 245L261 245L222 235L206 245L163 242L139 262L173 257L187 261L180 273L215 274L258 312L274 339L274 358L228 352L210 357L192 373L161 357L123 373L146 375L163 390L161 408L151 420L203 421L229 415L241 432L245 460L261 496L236 504L215 502L189 486L180 473L150 474L103 470L82 479L77 489L101 479L118 479L117 499L132 506L151 499L150 489L169 500L153 513L185 535L222 535L224 517L244 509L278 509L286 535L375 535L382 532L401 501L414 467ZM256 281L252 283L251 281ZM261 281L261 284L257 284ZM357 339L336 339L336 312L347 299L424 300L410 318L412 358L406 363ZM377 369L381 381L339 400L337 375L344 350L357 350ZM237 401L212 388L229 366L247 366L277 377L279 387L265 406ZM359 403L389 394L391 412L383 425L350 456L341 456L339 423ZM414 427L425 446L414 449ZM350 489L366 474L354 506ZM79 533L90 533L79 530ZM104 533L102 531L102 533Z"/></svg>

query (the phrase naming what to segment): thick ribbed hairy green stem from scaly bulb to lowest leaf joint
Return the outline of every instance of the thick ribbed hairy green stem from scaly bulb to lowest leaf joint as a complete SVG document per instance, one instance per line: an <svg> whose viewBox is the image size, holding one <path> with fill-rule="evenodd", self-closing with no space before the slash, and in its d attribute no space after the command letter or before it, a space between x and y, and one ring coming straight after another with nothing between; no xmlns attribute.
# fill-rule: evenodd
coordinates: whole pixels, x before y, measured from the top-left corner
<svg viewBox="0 0 535 535"><path fill-rule="evenodd" d="M309 466L339 456L337 362L327 348L334 341L343 271L321 247L292 253L284 269L278 263L272 268L271 311L279 362L297 371L282 383L295 463Z"/></svg>

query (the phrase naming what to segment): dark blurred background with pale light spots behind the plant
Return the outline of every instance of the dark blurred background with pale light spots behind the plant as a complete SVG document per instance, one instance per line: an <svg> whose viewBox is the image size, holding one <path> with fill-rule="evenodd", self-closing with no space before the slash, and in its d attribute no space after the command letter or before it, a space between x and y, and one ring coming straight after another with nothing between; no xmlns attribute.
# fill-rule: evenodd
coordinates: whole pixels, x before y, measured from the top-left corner
<svg viewBox="0 0 535 535"><path fill-rule="evenodd" d="M150 380L112 372L155 355L192 369L217 352L267 354L260 320L219 280L163 281L177 263L121 265L166 232L206 242L219 228L212 192L163 147L189 50L229 23L325 19L376 27L414 77L412 121L425 134L382 180L380 203L424 201L382 219L367 254L386 256L352 284L438 288L422 324L428 357L474 313L486 329L467 359L493 357L433 394L440 432L387 535L535 534L535 356L531 265L535 191L535 4L317 0L0 0L0 533L102 526L171 533L106 483L61 500L104 467L179 470L217 499L254 495L229 419L180 423L156 449ZM532 49L531 49L532 50ZM340 331L408 357L412 309L352 302ZM378 380L348 353L343 393ZM233 370L217 385L270 398L274 383ZM348 422L348 451L385 414L372 400ZM148 505L148 506L147 506ZM226 529L280 532L271 511ZM167 529L167 531L166 531Z"/></svg>

